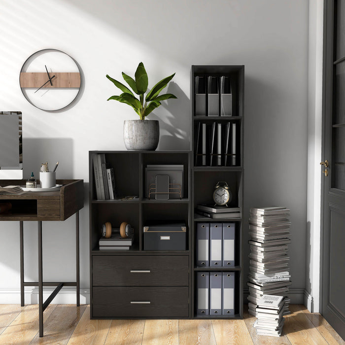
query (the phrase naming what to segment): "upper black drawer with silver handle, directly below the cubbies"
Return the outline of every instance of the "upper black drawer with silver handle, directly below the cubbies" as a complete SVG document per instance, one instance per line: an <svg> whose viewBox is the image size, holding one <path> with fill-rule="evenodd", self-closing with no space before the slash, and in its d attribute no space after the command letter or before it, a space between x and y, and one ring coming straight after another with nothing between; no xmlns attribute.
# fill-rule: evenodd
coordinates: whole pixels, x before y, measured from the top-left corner
<svg viewBox="0 0 345 345"><path fill-rule="evenodd" d="M93 286L188 286L186 255L99 255L92 258Z"/></svg>

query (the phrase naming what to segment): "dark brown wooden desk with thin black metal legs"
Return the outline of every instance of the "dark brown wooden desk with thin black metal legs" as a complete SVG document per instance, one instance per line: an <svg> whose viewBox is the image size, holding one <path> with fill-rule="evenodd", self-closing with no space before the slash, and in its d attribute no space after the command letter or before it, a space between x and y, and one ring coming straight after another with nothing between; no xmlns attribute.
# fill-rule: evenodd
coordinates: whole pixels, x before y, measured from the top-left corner
<svg viewBox="0 0 345 345"><path fill-rule="evenodd" d="M25 185L26 180L0 180L0 186ZM39 336L43 337L43 311L63 286L76 286L77 306L80 305L79 285L79 210L84 206L83 180L57 180L63 184L54 192L26 192L21 195L0 195L1 202L12 204L11 213L0 214L0 221L19 221L20 224L20 296L24 306L24 286L38 286ZM65 220L76 215L76 281L43 282L42 270L42 221ZM24 281L24 242L23 221L38 223L38 281ZM56 289L43 303L43 286L55 286Z"/></svg>

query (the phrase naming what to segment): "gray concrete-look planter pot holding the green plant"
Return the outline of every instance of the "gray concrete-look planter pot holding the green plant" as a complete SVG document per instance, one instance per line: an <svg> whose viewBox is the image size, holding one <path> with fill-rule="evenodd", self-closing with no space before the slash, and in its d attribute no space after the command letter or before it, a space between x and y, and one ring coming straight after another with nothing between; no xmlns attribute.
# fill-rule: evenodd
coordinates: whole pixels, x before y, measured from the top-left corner
<svg viewBox="0 0 345 345"><path fill-rule="evenodd" d="M154 151L159 142L159 121L126 120L123 122L123 138L127 150Z"/></svg>

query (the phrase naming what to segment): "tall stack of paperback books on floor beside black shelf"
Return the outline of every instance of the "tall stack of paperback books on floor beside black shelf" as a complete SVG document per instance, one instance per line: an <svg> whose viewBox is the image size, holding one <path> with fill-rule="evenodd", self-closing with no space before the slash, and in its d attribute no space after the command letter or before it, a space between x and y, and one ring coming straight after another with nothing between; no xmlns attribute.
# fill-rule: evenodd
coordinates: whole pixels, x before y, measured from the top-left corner
<svg viewBox="0 0 345 345"><path fill-rule="evenodd" d="M286 296L291 285L287 255L290 210L286 207L251 208L249 214L248 312L255 315L263 295ZM290 300L285 299L283 314Z"/></svg>

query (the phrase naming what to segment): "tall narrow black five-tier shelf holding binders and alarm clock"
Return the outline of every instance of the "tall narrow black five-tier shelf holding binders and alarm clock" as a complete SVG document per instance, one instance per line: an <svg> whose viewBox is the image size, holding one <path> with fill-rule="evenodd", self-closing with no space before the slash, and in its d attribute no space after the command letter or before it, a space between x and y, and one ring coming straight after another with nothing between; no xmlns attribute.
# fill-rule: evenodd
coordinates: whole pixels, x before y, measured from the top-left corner
<svg viewBox="0 0 345 345"><path fill-rule="evenodd" d="M215 93L218 80L218 93ZM229 83L226 95L224 85ZM209 81L209 82L208 82ZM202 84L201 84L202 83ZM212 88L211 91L209 89ZM229 95L231 93L231 95ZM223 98L222 98L223 97ZM192 219L192 318L243 317L243 113L244 66L192 66L191 69L191 145L192 145L192 210L200 204L212 204L214 187L226 181L232 194L229 207L240 207L241 215L233 219L212 219L193 214ZM197 266L198 223L235 223L235 266ZM234 313L231 315L199 315L197 274L230 273L235 276Z"/></svg>

